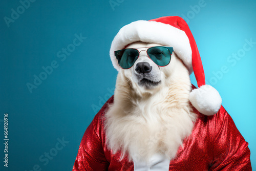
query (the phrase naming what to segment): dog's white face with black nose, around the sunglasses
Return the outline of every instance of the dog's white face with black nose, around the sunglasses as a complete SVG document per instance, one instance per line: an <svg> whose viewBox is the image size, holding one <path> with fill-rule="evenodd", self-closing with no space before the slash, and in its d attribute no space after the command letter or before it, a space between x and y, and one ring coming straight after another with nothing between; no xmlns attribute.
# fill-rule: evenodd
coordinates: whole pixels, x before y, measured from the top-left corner
<svg viewBox="0 0 256 171"><path fill-rule="evenodd" d="M185 80L190 83L188 69L184 66L175 52L172 53L170 62L165 67L159 67L148 57L147 47L163 46L147 42L134 42L126 48L139 48L139 57L130 69L120 69L119 74L130 82L130 88L139 94L154 94L158 90L168 88L177 80ZM174 49L175 51L175 49Z"/></svg>

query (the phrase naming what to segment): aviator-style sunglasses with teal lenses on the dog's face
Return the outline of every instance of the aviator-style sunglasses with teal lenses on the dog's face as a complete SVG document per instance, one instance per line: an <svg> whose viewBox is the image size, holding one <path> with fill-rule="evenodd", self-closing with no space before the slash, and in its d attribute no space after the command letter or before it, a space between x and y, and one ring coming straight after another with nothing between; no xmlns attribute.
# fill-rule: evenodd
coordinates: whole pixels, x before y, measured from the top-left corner
<svg viewBox="0 0 256 171"><path fill-rule="evenodd" d="M115 51L115 56L118 65L122 69L129 69L133 67L135 61L138 59L141 51L146 51L147 56L156 63L159 67L167 66L170 62L170 57L174 51L173 47L155 46L146 47L144 50L139 51L141 48L129 48Z"/></svg>

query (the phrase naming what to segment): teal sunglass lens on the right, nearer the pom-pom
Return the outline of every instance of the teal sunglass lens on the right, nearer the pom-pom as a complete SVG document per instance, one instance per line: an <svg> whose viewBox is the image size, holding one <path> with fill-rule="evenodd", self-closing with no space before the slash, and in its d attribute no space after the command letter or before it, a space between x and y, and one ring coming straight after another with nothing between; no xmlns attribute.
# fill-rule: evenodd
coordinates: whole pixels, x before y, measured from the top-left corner
<svg viewBox="0 0 256 171"><path fill-rule="evenodd" d="M156 65L164 67L170 62L172 53L166 47L152 47L147 50L148 56L156 63Z"/></svg>

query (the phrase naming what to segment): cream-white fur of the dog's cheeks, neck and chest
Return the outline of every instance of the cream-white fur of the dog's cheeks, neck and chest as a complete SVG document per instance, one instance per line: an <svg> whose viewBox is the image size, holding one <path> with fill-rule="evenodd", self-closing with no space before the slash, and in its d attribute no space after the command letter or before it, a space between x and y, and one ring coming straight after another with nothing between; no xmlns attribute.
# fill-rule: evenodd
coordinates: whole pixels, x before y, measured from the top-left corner
<svg viewBox="0 0 256 171"><path fill-rule="evenodd" d="M154 67L161 83L146 90L132 79L134 70L135 65L118 73L114 103L105 115L106 143L130 160L147 161L157 153L173 159L196 120L189 102L189 71L173 53L168 66Z"/></svg>

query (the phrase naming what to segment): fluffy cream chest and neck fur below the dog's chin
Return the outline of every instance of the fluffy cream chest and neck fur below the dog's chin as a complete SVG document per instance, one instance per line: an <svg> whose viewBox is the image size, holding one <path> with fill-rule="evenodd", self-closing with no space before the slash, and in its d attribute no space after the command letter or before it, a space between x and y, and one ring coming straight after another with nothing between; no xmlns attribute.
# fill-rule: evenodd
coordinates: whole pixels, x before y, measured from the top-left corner
<svg viewBox="0 0 256 171"><path fill-rule="evenodd" d="M108 147L129 159L148 160L156 153L174 158L196 120L188 100L190 89L189 84L176 83L141 98L117 82L114 103L106 113Z"/></svg>

